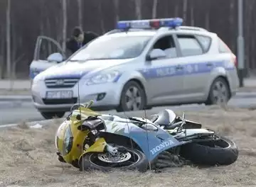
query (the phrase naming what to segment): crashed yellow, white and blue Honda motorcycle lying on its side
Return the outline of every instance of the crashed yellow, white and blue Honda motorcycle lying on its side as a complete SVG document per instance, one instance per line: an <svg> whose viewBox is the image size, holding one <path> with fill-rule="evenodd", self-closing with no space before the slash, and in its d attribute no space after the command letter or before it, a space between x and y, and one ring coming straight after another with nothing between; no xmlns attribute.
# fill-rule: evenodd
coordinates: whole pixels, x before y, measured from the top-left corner
<svg viewBox="0 0 256 187"><path fill-rule="evenodd" d="M228 165L238 159L235 142L200 123L163 110L153 118L120 118L75 104L55 135L60 162L87 171L146 171L187 163Z"/></svg>

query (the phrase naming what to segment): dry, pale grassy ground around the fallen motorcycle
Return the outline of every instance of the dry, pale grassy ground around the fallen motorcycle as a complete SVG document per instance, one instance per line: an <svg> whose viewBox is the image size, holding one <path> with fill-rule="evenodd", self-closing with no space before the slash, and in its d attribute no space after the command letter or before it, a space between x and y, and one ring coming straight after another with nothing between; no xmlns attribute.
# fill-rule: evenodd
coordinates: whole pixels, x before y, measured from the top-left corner
<svg viewBox="0 0 256 187"><path fill-rule="evenodd" d="M187 112L238 144L238 161L230 166L198 169L191 166L139 174L119 171L83 173L58 162L54 135L58 123L43 129L26 125L0 131L0 186L256 186L256 111L210 107ZM181 113L178 113L181 115Z"/></svg>

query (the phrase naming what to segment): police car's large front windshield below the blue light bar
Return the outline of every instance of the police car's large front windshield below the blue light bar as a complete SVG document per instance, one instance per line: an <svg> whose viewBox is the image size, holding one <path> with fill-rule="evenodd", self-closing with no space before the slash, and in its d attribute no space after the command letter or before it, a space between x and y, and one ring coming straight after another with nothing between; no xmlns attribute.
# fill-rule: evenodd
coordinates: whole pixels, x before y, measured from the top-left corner
<svg viewBox="0 0 256 187"><path fill-rule="evenodd" d="M70 61L128 59L138 57L151 36L102 37L77 52Z"/></svg>

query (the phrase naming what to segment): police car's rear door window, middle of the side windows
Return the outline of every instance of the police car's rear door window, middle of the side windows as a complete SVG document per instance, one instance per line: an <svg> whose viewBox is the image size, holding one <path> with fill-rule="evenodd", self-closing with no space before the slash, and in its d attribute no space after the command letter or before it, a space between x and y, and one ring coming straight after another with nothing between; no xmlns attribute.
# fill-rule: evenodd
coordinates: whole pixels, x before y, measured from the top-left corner
<svg viewBox="0 0 256 187"><path fill-rule="evenodd" d="M202 55L203 49L193 35L177 35L179 46L181 47L181 55L183 57Z"/></svg>

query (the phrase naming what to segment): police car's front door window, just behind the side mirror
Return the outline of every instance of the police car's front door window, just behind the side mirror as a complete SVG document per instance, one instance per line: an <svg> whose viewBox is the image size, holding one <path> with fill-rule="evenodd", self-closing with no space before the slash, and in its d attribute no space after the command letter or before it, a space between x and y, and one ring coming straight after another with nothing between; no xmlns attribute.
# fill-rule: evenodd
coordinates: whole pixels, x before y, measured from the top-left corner
<svg viewBox="0 0 256 187"><path fill-rule="evenodd" d="M159 38L153 45L153 49L163 50L166 53L166 58L177 57L176 46L172 35Z"/></svg>

